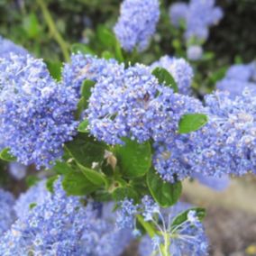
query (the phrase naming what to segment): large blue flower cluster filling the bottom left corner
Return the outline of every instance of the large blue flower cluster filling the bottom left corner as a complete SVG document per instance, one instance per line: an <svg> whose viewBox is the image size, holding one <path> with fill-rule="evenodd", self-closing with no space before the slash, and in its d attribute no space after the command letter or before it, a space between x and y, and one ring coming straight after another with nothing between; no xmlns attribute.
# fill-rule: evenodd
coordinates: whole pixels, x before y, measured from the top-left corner
<svg viewBox="0 0 256 256"><path fill-rule="evenodd" d="M131 231L114 228L114 214L100 217L101 207L79 197L67 197L61 180L50 194L43 182L18 203L28 206L32 193L40 192L31 210L25 210L0 241L1 255L120 255L130 242ZM43 193L46 197L43 197ZM25 201L28 199L28 202ZM118 239L118 244L116 240Z"/></svg>

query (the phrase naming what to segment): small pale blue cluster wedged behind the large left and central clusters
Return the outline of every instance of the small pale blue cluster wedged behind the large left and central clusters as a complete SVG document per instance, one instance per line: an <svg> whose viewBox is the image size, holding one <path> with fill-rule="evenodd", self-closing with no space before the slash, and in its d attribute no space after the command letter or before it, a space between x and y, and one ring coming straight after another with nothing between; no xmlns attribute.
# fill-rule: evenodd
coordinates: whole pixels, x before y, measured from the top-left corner
<svg viewBox="0 0 256 256"><path fill-rule="evenodd" d="M64 87L75 89L80 97L80 90L86 79L96 81L97 78L108 73L108 65L117 64L114 59L98 59L82 53L73 54L70 63L65 63L62 69L62 83ZM112 66L111 66L112 67Z"/></svg>

